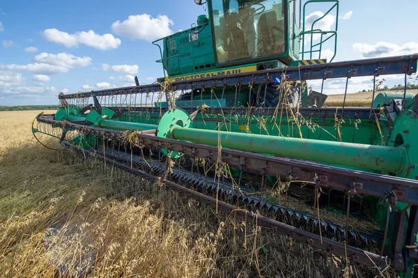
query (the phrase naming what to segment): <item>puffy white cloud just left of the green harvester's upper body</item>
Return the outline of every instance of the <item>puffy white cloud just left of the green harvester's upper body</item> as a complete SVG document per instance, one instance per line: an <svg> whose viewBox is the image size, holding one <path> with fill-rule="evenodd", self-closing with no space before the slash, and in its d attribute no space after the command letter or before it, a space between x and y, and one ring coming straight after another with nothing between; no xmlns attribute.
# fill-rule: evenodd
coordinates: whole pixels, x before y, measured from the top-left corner
<svg viewBox="0 0 418 278"><path fill-rule="evenodd" d="M158 15L153 18L144 13L143 15L130 15L123 22L119 20L114 22L111 24L111 30L119 36L151 42L173 33L170 29L171 25L173 25L173 20L167 15Z"/></svg>

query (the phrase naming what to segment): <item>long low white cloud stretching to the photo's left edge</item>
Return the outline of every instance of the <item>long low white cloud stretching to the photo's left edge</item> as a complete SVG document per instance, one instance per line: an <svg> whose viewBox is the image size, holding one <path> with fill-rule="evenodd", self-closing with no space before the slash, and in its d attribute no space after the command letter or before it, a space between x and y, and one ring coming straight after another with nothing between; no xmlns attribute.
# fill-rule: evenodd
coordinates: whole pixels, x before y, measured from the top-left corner
<svg viewBox="0 0 418 278"><path fill-rule="evenodd" d="M4 65L0 63L0 70L25 70L37 75L54 75L68 72L70 68L85 67L91 64L90 57L78 57L68 53L49 54L42 52L36 55L33 61L35 63L29 63L27 65Z"/></svg>

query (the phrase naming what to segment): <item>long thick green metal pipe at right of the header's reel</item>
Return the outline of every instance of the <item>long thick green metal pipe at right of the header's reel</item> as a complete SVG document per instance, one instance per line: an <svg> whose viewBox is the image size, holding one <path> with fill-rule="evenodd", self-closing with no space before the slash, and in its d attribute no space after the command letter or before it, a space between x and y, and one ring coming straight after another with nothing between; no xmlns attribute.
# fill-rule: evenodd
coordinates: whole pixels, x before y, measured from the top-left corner
<svg viewBox="0 0 418 278"><path fill-rule="evenodd" d="M182 128L178 125L171 128L169 138L211 146L220 144L222 148L233 148L235 150L293 157L389 173L400 173L406 164L406 151L403 147L201 130Z"/></svg>

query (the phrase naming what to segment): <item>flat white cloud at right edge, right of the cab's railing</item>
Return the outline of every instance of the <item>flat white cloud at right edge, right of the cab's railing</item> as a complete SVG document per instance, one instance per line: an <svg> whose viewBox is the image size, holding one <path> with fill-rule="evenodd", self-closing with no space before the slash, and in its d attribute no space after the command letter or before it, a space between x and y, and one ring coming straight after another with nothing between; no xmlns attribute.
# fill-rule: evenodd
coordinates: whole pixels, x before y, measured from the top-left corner
<svg viewBox="0 0 418 278"><path fill-rule="evenodd" d="M414 54L418 52L418 43L405 43L396 45L396 43L378 42L376 45L367 43L355 43L353 49L360 52L364 58L373 58L380 56L396 56L403 54Z"/></svg>

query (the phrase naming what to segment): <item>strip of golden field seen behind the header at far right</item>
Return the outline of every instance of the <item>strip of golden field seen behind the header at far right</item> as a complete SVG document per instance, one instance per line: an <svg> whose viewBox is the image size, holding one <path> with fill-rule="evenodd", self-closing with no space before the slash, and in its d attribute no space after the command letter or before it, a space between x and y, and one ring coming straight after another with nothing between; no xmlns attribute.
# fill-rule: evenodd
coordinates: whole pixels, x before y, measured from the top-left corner
<svg viewBox="0 0 418 278"><path fill-rule="evenodd" d="M389 91L390 93L399 93L403 95L403 91ZM376 95L380 92L376 92ZM418 93L418 90L408 90L408 93ZM346 107L370 107L371 106L371 96L373 92L358 92L358 93L348 93L346 98ZM375 98L376 98L375 95ZM339 107L343 105L344 94L339 93L336 95L328 95L325 105L327 107Z"/></svg>

